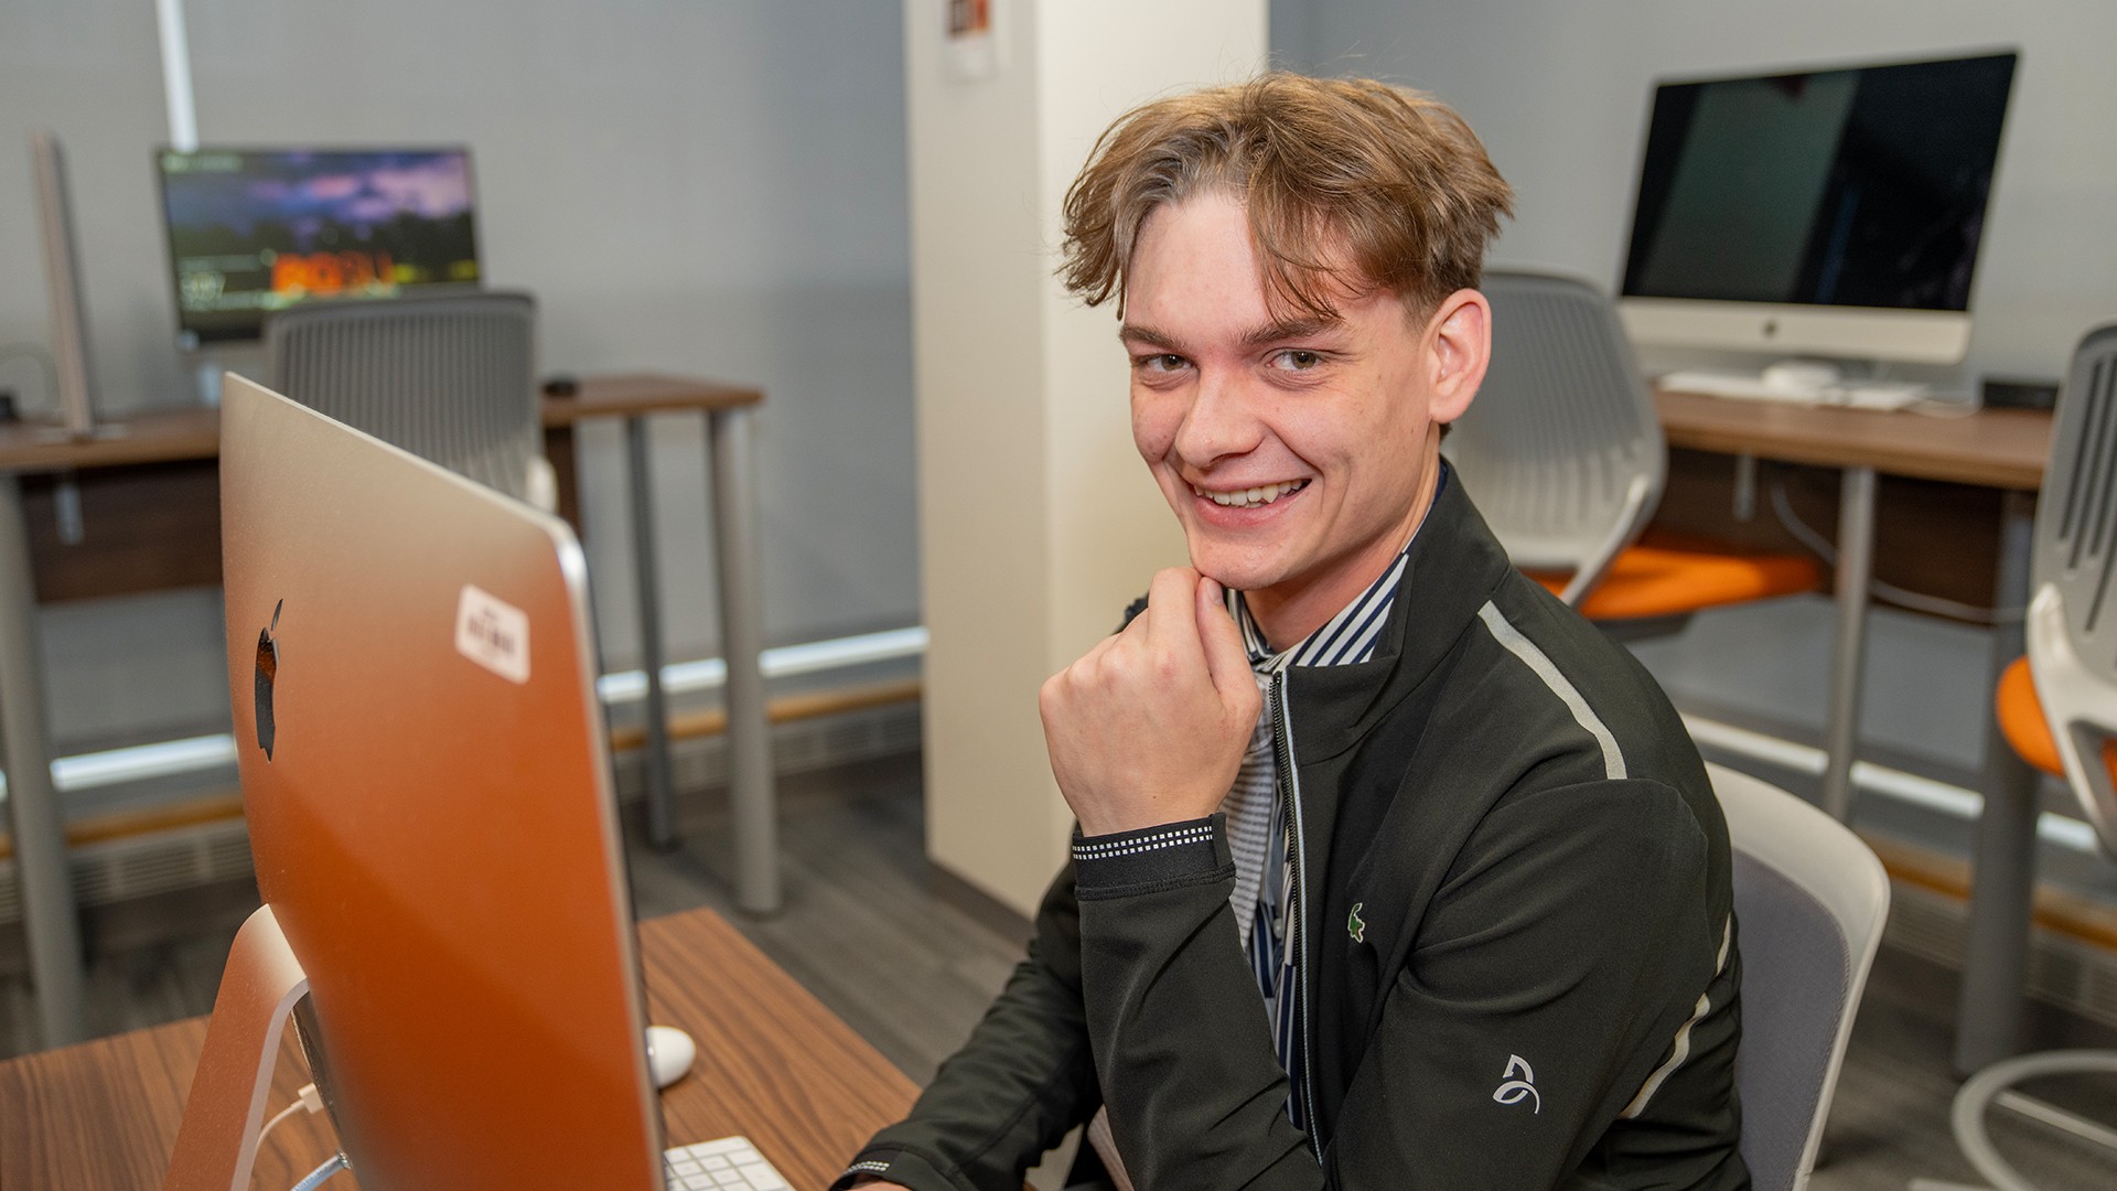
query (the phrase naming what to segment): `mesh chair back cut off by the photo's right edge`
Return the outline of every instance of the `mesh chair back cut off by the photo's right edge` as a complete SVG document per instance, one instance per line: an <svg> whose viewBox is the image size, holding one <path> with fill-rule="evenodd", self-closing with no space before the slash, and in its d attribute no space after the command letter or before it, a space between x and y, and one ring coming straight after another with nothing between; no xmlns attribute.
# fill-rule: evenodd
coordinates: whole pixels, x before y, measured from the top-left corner
<svg viewBox="0 0 2117 1191"><path fill-rule="evenodd" d="M2073 352L2037 502L2028 665L2102 846L2117 854L2117 324Z"/></svg>

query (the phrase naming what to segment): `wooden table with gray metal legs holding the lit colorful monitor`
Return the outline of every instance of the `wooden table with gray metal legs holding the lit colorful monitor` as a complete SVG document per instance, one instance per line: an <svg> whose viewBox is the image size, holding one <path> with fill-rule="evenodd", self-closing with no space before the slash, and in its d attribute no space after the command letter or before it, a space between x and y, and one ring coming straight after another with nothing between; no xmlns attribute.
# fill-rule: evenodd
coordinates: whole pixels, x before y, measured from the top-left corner
<svg viewBox="0 0 2117 1191"><path fill-rule="evenodd" d="M720 587L722 657L728 663L726 710L735 803L737 901L745 911L779 909L777 812L773 805L771 727L764 712L764 591L760 566L752 411L764 401L754 388L663 375L614 375L580 381L580 392L544 398L546 430L591 417L622 417L631 464L631 506L639 587L641 670L648 678L648 818L658 846L675 841L669 778L667 706L663 699L661 568L654 551L652 475L646 417L696 411L707 417L713 473L713 551ZM47 1045L87 1036L80 1017L80 924L66 863L66 814L51 784L51 733L36 636L36 576L21 477L38 473L108 473L140 464L210 462L220 454L220 411L205 407L135 413L104 424L93 439L70 441L49 428L0 424L0 761L6 767L8 818L21 877L30 981ZM199 498L203 494L195 494ZM212 517L205 517L212 521ZM218 523L218 521L214 521ZM218 568L182 555L218 538L142 534L135 549L165 551L176 581L210 583ZM152 587L152 583L148 583Z"/></svg>

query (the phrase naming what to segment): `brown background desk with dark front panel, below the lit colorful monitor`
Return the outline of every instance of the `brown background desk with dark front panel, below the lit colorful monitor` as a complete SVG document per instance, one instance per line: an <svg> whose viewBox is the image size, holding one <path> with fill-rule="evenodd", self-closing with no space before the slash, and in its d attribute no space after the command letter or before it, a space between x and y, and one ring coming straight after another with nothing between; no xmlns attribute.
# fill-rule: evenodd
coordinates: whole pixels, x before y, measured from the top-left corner
<svg viewBox="0 0 2117 1191"><path fill-rule="evenodd" d="M572 437L578 422L622 417L631 458L633 564L639 589L641 670L648 678L648 820L654 841L675 841L667 706L661 689L661 568L654 553L646 417L707 417L713 477L713 549L720 587L737 896L743 909L779 907L771 729L764 714L764 593L758 543L752 411L764 394L658 375L591 377L580 392L544 398L557 439L561 513L574 513ZM51 784L51 733L36 636L38 600L114 596L220 583L218 409L176 409L112 420L91 441L53 441L47 428L0 426L0 757L21 882L30 979L49 1045L87 1036L80 1019L80 928L66 860L66 814ZM72 477L93 547L57 540L57 485ZM569 517L578 526L578 515Z"/></svg>

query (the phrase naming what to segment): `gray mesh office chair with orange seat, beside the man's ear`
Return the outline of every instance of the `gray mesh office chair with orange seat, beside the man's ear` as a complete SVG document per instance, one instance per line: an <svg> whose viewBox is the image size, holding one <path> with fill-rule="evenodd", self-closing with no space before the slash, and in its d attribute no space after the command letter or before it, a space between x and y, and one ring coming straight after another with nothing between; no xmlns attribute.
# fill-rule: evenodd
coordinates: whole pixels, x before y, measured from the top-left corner
<svg viewBox="0 0 2117 1191"><path fill-rule="evenodd" d="M1442 454L1518 568L1590 621L1675 627L1702 608L1814 591L1806 555L1636 543L1668 449L1617 312L1592 286L1488 271L1492 362Z"/></svg>

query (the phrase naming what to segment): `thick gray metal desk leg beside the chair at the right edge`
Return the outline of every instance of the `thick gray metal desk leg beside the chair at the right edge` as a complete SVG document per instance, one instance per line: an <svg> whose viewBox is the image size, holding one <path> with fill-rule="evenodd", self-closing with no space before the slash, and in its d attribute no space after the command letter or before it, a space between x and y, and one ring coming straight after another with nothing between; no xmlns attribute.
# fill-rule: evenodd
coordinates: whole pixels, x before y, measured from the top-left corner
<svg viewBox="0 0 2117 1191"><path fill-rule="evenodd" d="M2020 610L2028 604L2034 500L2009 492L2001 504L1998 583L1992 604ZM1992 629L1992 665L1986 691L2022 657L2022 623ZM1956 1007L1956 1072L1971 1074L2024 1045L2028 935L2037 890L2037 771L1986 716L1984 812L1971 858L1971 922L1962 956L1962 1000Z"/></svg>

